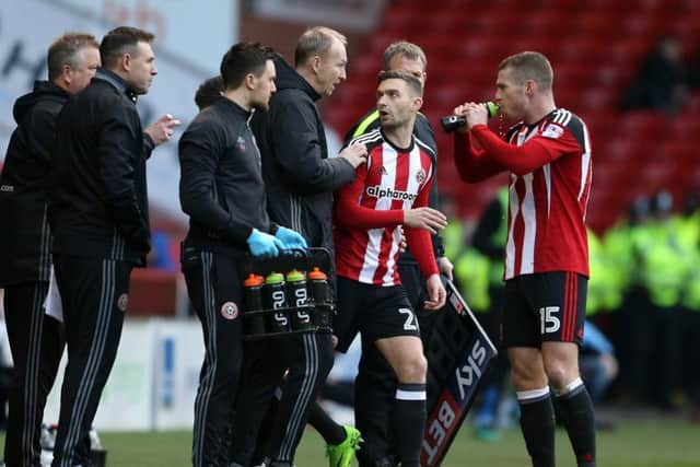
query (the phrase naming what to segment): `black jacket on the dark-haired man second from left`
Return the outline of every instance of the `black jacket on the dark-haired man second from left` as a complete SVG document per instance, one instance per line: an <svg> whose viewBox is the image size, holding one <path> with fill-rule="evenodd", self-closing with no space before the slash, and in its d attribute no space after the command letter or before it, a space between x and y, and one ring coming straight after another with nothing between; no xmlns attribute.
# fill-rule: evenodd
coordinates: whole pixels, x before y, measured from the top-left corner
<svg viewBox="0 0 700 467"><path fill-rule="evenodd" d="M97 70L57 120L54 253L145 265L145 160L152 149L136 95L115 73Z"/></svg>

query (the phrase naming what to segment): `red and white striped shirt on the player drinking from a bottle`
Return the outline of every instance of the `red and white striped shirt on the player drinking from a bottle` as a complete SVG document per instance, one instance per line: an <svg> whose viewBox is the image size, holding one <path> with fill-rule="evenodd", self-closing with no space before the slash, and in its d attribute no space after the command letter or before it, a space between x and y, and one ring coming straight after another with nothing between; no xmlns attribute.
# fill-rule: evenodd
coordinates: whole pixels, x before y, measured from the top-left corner
<svg viewBox="0 0 700 467"><path fill-rule="evenodd" d="M511 172L504 278L546 271L587 277L592 160L585 124L559 108L537 124L516 125L506 140L510 144L485 125L455 140L455 162L465 180Z"/></svg>

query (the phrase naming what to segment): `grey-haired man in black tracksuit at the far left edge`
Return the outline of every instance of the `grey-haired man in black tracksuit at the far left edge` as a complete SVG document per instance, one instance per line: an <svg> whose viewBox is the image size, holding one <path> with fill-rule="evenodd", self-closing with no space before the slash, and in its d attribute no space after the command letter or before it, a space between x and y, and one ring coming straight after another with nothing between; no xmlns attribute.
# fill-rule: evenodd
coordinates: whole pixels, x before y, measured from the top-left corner
<svg viewBox="0 0 700 467"><path fill-rule="evenodd" d="M0 288L14 364L4 459L8 466L38 465L46 397L63 351L61 325L44 314L50 275L48 200L51 145L57 116L100 67L95 37L66 33L50 45L48 81L14 103L18 124L0 176ZM11 227L10 227L11 226Z"/></svg>

